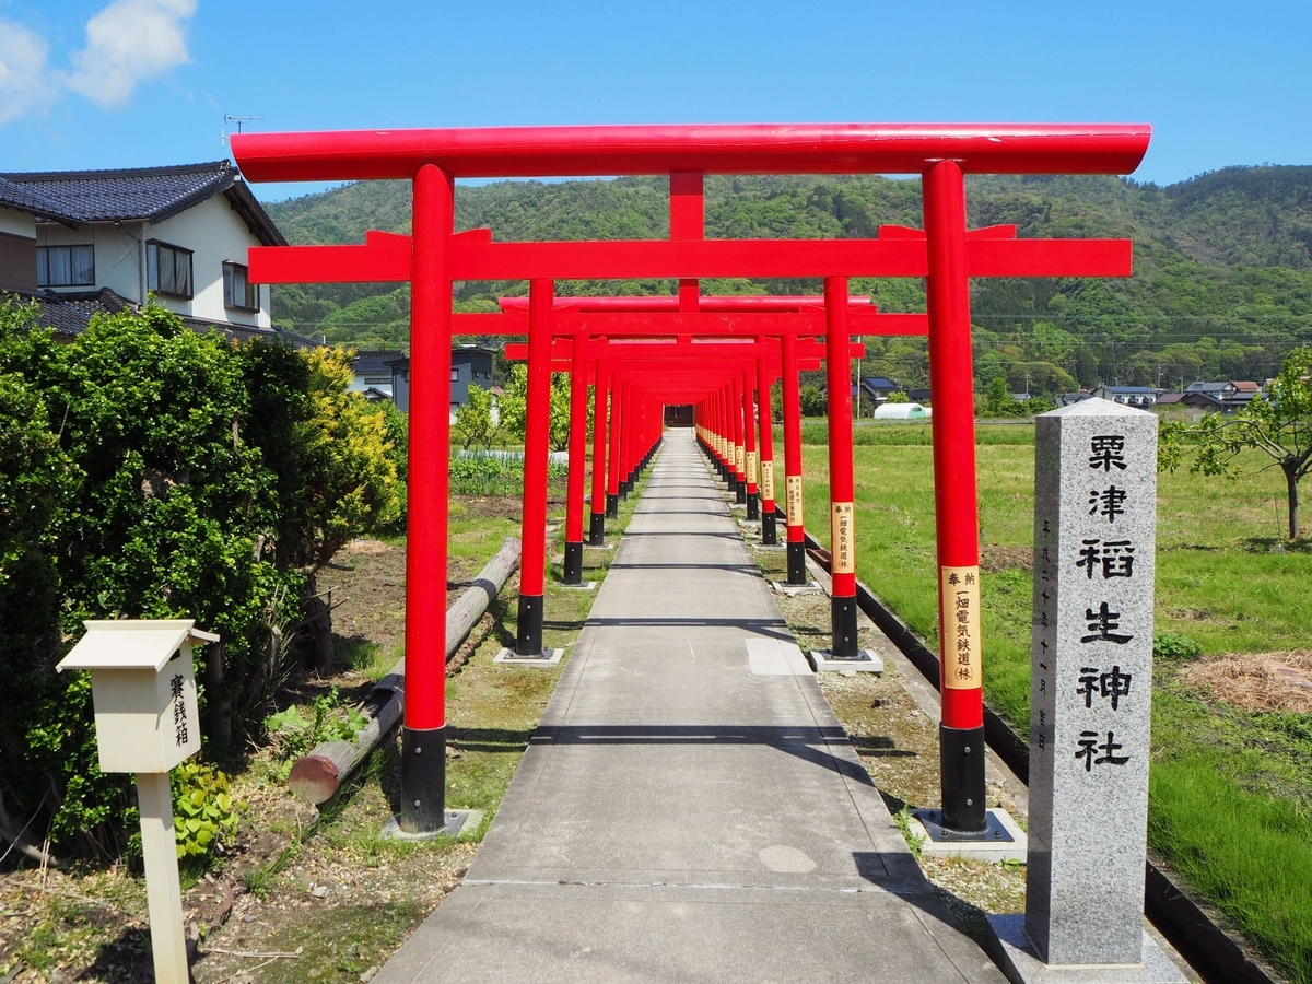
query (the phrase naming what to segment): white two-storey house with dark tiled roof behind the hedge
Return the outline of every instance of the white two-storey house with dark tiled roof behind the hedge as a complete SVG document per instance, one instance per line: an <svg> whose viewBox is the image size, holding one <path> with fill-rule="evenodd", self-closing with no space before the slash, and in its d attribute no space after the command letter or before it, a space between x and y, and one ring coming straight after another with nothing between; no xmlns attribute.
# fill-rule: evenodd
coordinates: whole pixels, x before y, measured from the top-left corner
<svg viewBox="0 0 1312 984"><path fill-rule="evenodd" d="M154 294L193 327L273 333L269 289L248 277L252 245L286 240L227 160L0 176L0 287L50 308Z"/></svg>

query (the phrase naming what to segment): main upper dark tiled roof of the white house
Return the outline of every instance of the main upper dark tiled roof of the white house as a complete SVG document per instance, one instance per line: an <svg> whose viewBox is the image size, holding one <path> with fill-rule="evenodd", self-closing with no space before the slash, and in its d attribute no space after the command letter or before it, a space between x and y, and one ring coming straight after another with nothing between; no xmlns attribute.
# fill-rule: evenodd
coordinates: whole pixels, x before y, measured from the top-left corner
<svg viewBox="0 0 1312 984"><path fill-rule="evenodd" d="M60 220L164 222L213 198L227 197L265 245L286 245L240 173L227 160L125 171L46 171L0 176L58 210Z"/></svg>

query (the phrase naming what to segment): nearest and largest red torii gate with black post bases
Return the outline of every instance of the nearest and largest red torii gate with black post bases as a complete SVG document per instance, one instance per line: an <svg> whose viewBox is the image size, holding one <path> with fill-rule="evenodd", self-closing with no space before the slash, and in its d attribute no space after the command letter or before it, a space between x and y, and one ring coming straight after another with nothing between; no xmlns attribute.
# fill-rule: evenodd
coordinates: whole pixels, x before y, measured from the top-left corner
<svg viewBox="0 0 1312 984"><path fill-rule="evenodd" d="M985 829L980 640L949 635L951 583L979 605L970 277L1128 276L1128 240L968 237L964 174L1132 172L1151 139L1145 125L726 125L506 127L244 134L234 156L251 181L413 182L413 234L369 234L362 247L251 249L255 282L411 281L411 485L407 551L405 712L401 825L438 829L445 796L446 497L451 283L470 279L680 279L681 300L706 277L824 277L829 344L850 336L848 278L925 277L934 392L934 487L942 659L943 823ZM924 237L705 240L702 174L909 173L924 188ZM468 177L669 174L669 240L492 243L454 231L454 181ZM833 300L830 300L833 298ZM841 298L842 303L837 299ZM836 341L837 338L837 341ZM834 374L830 366L830 375ZM785 349L783 378L789 363ZM795 380L795 377L794 377ZM844 379L840 400L850 401ZM830 400L834 387L830 382ZM787 415L785 415L787 419ZM850 442L829 422L830 446ZM837 433L836 433L837 432ZM527 462L526 462L527 467ZM546 464L543 463L543 468ZM834 495L834 594L854 588L840 505L850 517L850 474ZM790 489L791 491L791 489ZM848 492L846 504L838 495ZM848 569L850 564L850 569ZM955 605L953 606L955 607ZM854 613L853 613L854 618ZM955 646L950 640L955 639ZM955 653L955 659L954 659Z"/></svg>

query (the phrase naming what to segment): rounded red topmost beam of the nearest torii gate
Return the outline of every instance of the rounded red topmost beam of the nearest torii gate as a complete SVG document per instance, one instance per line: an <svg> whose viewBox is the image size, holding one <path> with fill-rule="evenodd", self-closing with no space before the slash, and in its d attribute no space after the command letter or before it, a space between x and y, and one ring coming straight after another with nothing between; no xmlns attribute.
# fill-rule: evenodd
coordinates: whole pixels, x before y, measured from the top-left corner
<svg viewBox="0 0 1312 984"><path fill-rule="evenodd" d="M234 134L248 181L589 174L1128 174L1147 123L729 123Z"/></svg>

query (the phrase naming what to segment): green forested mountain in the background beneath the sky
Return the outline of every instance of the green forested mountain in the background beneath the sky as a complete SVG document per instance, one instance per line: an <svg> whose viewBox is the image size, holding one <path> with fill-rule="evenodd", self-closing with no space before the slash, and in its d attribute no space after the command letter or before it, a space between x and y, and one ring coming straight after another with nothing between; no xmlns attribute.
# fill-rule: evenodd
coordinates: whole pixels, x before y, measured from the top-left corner
<svg viewBox="0 0 1312 984"><path fill-rule="evenodd" d="M1098 382L1178 386L1263 379L1312 341L1312 167L1227 168L1158 188L1115 177L970 177L971 226L1021 236L1130 236L1127 279L981 279L972 294L981 386L1059 392ZM268 206L293 243L359 243L409 231L409 185L366 182ZM457 188L457 228L499 240L668 235L664 178L505 181ZM708 237L874 236L921 224L920 182L878 176L707 177ZM909 279L855 279L888 311L924 310ZM817 293L819 281L707 281L703 291ZM459 283L462 310L492 310L525 283ZM669 281L560 283L559 294L669 294ZM278 287L274 319L361 348L404 346L408 289ZM867 338L866 374L924 386L924 340Z"/></svg>

